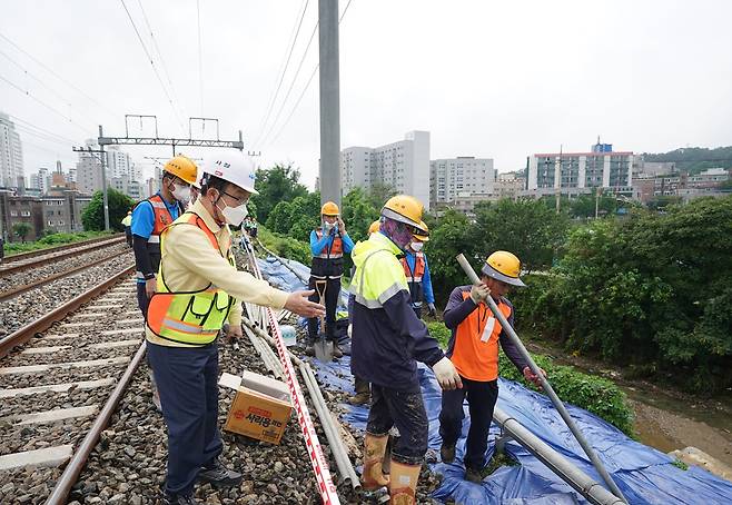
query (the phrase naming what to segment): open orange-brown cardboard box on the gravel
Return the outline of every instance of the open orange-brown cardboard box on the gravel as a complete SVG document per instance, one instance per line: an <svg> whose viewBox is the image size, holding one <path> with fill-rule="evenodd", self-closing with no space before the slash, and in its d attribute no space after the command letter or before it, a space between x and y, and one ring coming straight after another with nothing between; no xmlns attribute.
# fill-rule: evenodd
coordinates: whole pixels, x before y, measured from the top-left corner
<svg viewBox="0 0 732 505"><path fill-rule="evenodd" d="M285 383L245 372L244 377L222 374L219 385L236 390L224 429L279 444L293 405Z"/></svg>

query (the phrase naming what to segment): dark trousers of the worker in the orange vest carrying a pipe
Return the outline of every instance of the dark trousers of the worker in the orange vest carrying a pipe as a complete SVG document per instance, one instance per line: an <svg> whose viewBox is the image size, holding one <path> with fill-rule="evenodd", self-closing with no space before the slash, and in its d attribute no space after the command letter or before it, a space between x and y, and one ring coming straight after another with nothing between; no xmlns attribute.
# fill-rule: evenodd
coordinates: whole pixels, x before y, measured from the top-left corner
<svg viewBox="0 0 732 505"><path fill-rule="evenodd" d="M479 382L461 377L462 389L443 392L439 413L439 436L443 444L455 445L463 429L463 400L467 395L471 413L471 428L465 443L465 467L481 471L485 466L485 450L488 447L488 429L493 419L493 408L498 399L498 382Z"/></svg>

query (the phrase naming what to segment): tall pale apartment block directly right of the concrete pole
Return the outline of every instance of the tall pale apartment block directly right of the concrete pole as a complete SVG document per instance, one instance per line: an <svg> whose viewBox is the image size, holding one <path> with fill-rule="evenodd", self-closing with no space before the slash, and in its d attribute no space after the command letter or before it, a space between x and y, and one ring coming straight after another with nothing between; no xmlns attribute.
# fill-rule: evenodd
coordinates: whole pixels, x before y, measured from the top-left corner
<svg viewBox="0 0 732 505"><path fill-rule="evenodd" d="M343 194L383 184L412 195L429 210L429 132L409 131L404 140L380 147L348 147L340 151Z"/></svg>

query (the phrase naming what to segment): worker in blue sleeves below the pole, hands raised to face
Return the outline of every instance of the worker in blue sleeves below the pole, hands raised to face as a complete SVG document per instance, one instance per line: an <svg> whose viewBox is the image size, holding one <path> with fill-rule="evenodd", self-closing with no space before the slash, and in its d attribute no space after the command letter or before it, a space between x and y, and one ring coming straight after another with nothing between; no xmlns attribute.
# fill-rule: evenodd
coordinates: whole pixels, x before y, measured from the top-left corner
<svg viewBox="0 0 732 505"><path fill-rule="evenodd" d="M310 231L310 265L309 288L315 289L311 301L325 301L326 339L333 341L333 356L343 357L336 337L336 308L340 296L340 277L343 277L343 255L350 254L354 241L346 231L346 225L340 219L340 209L333 201L326 201L320 209L320 226ZM320 299L323 298L323 301ZM323 330L323 328L320 328ZM318 319L313 317L307 321L307 347L305 353L315 354L314 345L318 334Z"/></svg>

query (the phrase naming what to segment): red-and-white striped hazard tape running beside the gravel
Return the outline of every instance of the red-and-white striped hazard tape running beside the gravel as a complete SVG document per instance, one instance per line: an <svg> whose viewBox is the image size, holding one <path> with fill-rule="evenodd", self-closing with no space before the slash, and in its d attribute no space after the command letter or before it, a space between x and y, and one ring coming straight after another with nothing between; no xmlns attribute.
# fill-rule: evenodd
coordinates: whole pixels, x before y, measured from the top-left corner
<svg viewBox="0 0 732 505"><path fill-rule="evenodd" d="M259 265L254 256L254 251L247 247L247 254L251 259L250 264L254 268L256 277L261 279L261 273L259 271ZM335 484L333 484L333 478L330 477L330 469L328 463L325 459L323 454L323 447L320 446L320 440L318 439L317 433L315 433L315 426L313 426L313 420L310 419L310 413L307 409L305 403L305 396L303 396L303 389L300 384L297 382L297 376L295 375L295 368L293 367L291 362L289 360L287 347L285 346L285 340L283 340L283 335L279 331L279 325L277 324L277 318L273 313L271 308L264 307L267 319L269 320L269 327L273 330L275 343L277 344L277 354L279 354L279 360L283 364L285 369L285 376L287 378L287 387L289 388L293 403L295 404L295 412L297 413L297 422L300 425L300 430L303 432L303 437L305 437L305 445L307 446L307 455L310 458L310 464L313 465L313 472L315 472L315 478L318 483L318 491L320 492L320 497L325 505L339 505L340 499L338 498L337 489Z"/></svg>

